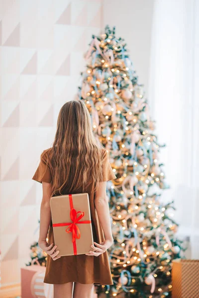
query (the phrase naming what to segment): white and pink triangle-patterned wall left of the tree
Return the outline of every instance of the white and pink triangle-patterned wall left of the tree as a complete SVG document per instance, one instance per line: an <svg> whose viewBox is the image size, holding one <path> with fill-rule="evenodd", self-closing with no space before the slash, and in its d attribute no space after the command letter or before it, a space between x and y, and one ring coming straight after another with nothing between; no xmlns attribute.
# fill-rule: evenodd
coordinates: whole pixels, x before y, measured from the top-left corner
<svg viewBox="0 0 199 298"><path fill-rule="evenodd" d="M38 239L42 186L31 180L74 98L102 0L0 0L1 282L19 283Z"/></svg>

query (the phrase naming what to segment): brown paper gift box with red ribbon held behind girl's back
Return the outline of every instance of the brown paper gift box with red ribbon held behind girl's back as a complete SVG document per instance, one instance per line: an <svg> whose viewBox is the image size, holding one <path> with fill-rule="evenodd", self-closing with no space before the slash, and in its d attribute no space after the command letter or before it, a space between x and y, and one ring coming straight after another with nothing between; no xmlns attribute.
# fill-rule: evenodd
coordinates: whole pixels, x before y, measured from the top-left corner
<svg viewBox="0 0 199 298"><path fill-rule="evenodd" d="M50 207L58 256L89 253L93 232L88 193L51 197Z"/></svg>

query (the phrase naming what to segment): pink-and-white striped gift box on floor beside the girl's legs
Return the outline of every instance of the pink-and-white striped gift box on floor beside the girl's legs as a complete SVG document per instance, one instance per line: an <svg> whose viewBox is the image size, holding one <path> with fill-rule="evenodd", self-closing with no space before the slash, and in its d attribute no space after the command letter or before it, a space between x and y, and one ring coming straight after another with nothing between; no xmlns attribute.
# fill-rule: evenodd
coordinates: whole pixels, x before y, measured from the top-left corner
<svg viewBox="0 0 199 298"><path fill-rule="evenodd" d="M34 298L53 298L53 285L43 282L45 272L36 272L31 281L31 292Z"/></svg>

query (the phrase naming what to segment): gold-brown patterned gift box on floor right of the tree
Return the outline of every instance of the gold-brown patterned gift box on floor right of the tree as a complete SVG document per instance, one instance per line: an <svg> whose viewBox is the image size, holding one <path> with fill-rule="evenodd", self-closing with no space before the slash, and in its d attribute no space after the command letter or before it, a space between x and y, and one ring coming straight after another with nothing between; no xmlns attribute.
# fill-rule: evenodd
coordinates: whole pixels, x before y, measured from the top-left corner
<svg viewBox="0 0 199 298"><path fill-rule="evenodd" d="M172 263L172 298L199 298L199 260Z"/></svg>

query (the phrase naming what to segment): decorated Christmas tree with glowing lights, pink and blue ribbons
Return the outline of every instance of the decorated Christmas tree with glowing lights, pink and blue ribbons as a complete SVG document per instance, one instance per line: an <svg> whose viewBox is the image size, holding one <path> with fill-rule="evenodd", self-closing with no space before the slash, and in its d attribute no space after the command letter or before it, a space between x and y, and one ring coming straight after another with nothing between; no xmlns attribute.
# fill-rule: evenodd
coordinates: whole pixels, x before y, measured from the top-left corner
<svg viewBox="0 0 199 298"><path fill-rule="evenodd" d="M154 122L126 43L105 27L93 36L85 56L79 98L86 103L96 138L109 152L117 177L107 182L114 244L109 250L113 286L106 297L171 297L171 265L182 257L173 202L161 202L168 188L159 161Z"/></svg>

